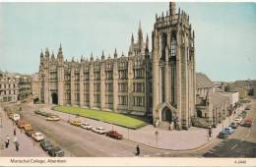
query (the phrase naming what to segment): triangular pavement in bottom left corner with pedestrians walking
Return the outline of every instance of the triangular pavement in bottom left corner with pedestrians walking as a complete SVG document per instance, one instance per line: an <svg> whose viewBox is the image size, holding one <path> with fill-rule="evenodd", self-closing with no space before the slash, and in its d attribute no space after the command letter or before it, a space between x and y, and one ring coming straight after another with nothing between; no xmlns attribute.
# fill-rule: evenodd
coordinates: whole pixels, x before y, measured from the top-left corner
<svg viewBox="0 0 256 167"><path fill-rule="evenodd" d="M2 114L2 128L0 128L0 140L5 142L6 136L10 137L10 144L8 148L0 148L0 157L25 157L25 156L48 156L31 138L27 137L23 131L8 118L3 108L0 106L0 114ZM20 143L19 151L16 151L14 138L14 128L16 128L16 137Z"/></svg>

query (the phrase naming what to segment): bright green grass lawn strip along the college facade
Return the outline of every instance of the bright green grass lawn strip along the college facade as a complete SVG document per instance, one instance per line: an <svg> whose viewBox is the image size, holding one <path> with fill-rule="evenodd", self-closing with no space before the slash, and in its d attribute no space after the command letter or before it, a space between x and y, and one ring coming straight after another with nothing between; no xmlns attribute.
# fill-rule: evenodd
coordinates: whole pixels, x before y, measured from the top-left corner
<svg viewBox="0 0 256 167"><path fill-rule="evenodd" d="M71 107L71 106L55 106L52 108L56 111L61 111L64 113L70 114L79 114L82 117L92 118L95 120L99 120L102 122L130 128L130 129L138 129L141 128L148 123L139 118L131 117L124 114L118 114L108 111L100 111L100 110L92 110L85 109L79 107Z"/></svg>

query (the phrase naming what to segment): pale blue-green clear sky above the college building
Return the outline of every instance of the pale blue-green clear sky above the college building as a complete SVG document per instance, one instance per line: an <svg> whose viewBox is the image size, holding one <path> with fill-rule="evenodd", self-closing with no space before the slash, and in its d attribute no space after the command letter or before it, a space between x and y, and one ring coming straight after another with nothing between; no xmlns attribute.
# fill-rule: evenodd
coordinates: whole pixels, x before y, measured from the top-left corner
<svg viewBox="0 0 256 167"><path fill-rule="evenodd" d="M256 79L256 3L177 3L195 30L196 71L212 81ZM61 43L64 58L113 57L128 53L139 22L144 39L160 3L0 3L0 70L38 72L39 54L55 54Z"/></svg>

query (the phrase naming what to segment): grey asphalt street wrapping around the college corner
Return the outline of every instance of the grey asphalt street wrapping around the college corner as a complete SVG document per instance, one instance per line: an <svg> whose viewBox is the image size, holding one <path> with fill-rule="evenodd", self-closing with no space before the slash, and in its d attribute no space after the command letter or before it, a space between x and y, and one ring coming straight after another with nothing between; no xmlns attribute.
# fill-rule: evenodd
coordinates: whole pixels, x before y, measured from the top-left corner
<svg viewBox="0 0 256 167"><path fill-rule="evenodd" d="M246 118L253 118L255 123L255 99L252 100L251 106L252 109L248 110ZM135 156L137 142L128 139L110 139L92 131L71 126L66 119L58 122L49 122L45 120L45 117L33 113L37 109L35 105L25 104L22 107L23 110L21 112L17 111L22 115L22 119L32 124L33 129L43 133L45 139L60 145L65 150L65 156ZM13 127L10 119L8 119L8 122ZM29 137L26 138L30 139ZM36 150L40 149L38 143L35 144L35 147ZM228 139L212 139L204 146L191 150L163 150L144 144L140 144L140 148L140 156L143 157L255 157L256 125L253 124L251 128L239 126ZM37 153L37 156L47 156L47 154Z"/></svg>

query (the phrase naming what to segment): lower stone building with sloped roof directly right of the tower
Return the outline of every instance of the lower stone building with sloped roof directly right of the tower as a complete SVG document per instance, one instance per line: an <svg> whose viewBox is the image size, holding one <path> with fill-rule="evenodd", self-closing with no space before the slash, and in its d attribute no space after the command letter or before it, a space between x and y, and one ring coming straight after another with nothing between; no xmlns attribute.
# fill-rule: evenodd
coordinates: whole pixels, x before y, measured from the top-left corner
<svg viewBox="0 0 256 167"><path fill-rule="evenodd" d="M196 117L194 126L216 126L230 114L229 97L217 92L214 83L202 73L196 74Z"/></svg>

